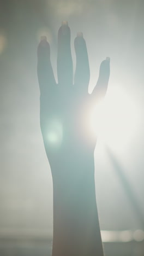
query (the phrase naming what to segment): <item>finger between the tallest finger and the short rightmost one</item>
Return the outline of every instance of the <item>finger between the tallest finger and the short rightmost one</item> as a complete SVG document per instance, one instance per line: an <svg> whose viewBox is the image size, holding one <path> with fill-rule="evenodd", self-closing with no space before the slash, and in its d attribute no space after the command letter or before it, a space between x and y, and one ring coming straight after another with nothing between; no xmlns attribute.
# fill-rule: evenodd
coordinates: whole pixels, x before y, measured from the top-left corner
<svg viewBox="0 0 144 256"><path fill-rule="evenodd" d="M81 32L77 33L74 45L76 53L75 85L79 85L83 91L88 91L90 78L89 62L86 42Z"/></svg>

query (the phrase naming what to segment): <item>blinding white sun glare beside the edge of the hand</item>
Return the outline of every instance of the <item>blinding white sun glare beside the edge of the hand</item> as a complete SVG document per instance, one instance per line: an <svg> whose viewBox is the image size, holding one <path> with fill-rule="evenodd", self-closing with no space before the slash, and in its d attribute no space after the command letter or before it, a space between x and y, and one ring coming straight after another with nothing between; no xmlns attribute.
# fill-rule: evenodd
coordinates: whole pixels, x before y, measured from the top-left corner
<svg viewBox="0 0 144 256"><path fill-rule="evenodd" d="M129 146L139 125L136 102L121 88L112 88L91 114L91 131L113 150Z"/></svg>

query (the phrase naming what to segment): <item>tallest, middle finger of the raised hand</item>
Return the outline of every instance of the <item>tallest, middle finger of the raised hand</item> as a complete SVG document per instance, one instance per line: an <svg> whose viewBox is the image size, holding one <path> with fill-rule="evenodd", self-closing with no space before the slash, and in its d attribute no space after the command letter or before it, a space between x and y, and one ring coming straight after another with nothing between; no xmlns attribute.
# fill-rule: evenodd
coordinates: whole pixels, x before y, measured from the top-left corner
<svg viewBox="0 0 144 256"><path fill-rule="evenodd" d="M63 21L62 26L58 30L57 77L58 83L61 85L73 84L70 28L67 21Z"/></svg>

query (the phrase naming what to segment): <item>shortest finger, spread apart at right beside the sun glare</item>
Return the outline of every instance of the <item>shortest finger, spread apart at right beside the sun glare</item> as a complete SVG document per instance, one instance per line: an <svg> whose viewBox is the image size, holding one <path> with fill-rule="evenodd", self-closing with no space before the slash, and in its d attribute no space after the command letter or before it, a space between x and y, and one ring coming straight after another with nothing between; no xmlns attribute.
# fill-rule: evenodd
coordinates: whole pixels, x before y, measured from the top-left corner
<svg viewBox="0 0 144 256"><path fill-rule="evenodd" d="M99 78L97 85L95 86L92 97L94 98L101 98L104 97L107 91L107 86L109 83L110 77L110 58L106 57L104 61L100 64L99 69Z"/></svg>

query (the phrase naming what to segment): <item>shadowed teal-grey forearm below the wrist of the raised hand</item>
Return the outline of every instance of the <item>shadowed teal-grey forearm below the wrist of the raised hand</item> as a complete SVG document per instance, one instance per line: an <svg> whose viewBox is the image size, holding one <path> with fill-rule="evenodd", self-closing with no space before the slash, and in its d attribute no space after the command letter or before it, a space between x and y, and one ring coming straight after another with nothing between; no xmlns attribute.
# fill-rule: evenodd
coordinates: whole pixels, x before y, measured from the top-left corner
<svg viewBox="0 0 144 256"><path fill-rule="evenodd" d="M57 254L103 256L94 173L53 179L53 256Z"/></svg>

